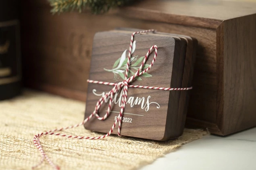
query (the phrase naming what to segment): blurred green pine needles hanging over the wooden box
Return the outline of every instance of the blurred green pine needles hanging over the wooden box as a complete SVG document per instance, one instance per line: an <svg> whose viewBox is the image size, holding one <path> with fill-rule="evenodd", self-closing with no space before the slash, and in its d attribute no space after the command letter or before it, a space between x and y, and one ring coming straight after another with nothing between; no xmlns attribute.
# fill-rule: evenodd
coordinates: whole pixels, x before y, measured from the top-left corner
<svg viewBox="0 0 256 170"><path fill-rule="evenodd" d="M124 6L133 0L48 0L52 13L90 9L94 14L107 12L110 8Z"/></svg>

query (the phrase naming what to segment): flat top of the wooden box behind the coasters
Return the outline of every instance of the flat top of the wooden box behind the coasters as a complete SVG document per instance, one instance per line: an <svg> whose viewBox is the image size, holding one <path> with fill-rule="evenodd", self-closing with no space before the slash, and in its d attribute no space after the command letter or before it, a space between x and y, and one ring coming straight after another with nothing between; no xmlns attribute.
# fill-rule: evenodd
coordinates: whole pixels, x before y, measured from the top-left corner
<svg viewBox="0 0 256 170"><path fill-rule="evenodd" d="M238 10L239 9L239 10ZM256 12L256 3L237 0L141 0L122 8L133 18L217 28L221 21Z"/></svg>

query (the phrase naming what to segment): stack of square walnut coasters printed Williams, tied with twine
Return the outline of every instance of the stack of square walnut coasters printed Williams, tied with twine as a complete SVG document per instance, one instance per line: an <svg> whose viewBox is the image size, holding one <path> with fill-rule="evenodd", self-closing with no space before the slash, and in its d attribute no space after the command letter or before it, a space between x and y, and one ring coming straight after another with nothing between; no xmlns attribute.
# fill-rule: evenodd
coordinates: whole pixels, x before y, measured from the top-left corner
<svg viewBox="0 0 256 170"><path fill-rule="evenodd" d="M137 29L120 28L98 32L94 36L89 79L119 83L125 79L131 34ZM152 68L129 85L163 88L191 87L197 40L189 36L148 32L135 34L129 75L142 65L148 49L156 45L158 55ZM149 55L144 69L149 67L154 53ZM111 85L89 83L85 118L95 109L96 102L113 88ZM122 90L115 93L111 114L104 121L96 117L85 128L107 133L120 112ZM128 88L127 104L122 119L121 135L151 140L168 140L180 136L185 125L189 90ZM98 114L103 116L109 98ZM113 131L117 134L117 128Z"/></svg>

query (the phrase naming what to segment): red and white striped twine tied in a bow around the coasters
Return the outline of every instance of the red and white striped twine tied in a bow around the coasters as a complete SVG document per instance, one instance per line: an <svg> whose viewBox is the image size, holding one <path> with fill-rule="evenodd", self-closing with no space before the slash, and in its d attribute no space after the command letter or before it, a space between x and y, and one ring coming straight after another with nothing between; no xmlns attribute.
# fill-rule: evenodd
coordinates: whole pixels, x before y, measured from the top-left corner
<svg viewBox="0 0 256 170"><path fill-rule="evenodd" d="M123 117L123 111L125 109L125 105L127 102L127 91L128 91L128 87L134 87L134 88L144 88L144 89L156 89L156 90L190 90L192 89L192 87L186 87L186 88L163 88L163 87L148 87L148 86L141 86L141 85L129 85L129 83L131 83L136 77L142 75L143 73L146 73L147 71L149 71L151 69L151 67L153 66L155 60L156 60L156 56L157 56L157 46L153 45L149 50L148 53L145 55L144 61L142 63L142 65L139 67L139 69L136 71L136 73L128 78L128 73L129 73L129 68L130 68L130 59L131 59L131 51L132 51L132 44L133 44L133 39L134 39L134 35L135 34L139 34L139 33L144 33L144 32L154 32L154 30L143 30L143 31L138 31L138 32L133 32L133 34L131 35L131 43L130 43L130 48L129 48L129 55L128 55L128 61L127 61L127 67L126 67L126 73L125 73L125 80L121 81L119 83L108 83L108 82L103 82L103 81L94 81L94 80L87 80L87 82L89 83L96 83L96 84L103 84L103 85L112 85L114 86L108 93L106 93L103 97L101 97L98 102L96 103L94 112L89 115L89 117L87 117L83 122L77 124L77 125L72 125L72 126L68 126L68 127L62 127L59 129L54 129L54 130L50 130L47 132L42 132L41 134L37 134L34 136L33 138L33 142L35 144L35 146L37 147L37 149L40 151L41 155L42 155L42 159L40 161L39 164L37 164L36 166L33 166L32 168L37 168L38 166L40 166L44 160L46 160L52 167L54 167L55 169L60 169L59 166L55 165L52 160L50 160L50 158L46 155L46 153L44 152L41 144L40 144L40 137L44 136L44 135L56 135L56 136L62 136L62 137L67 137L67 138L75 138L75 139L90 139L90 140L96 140L96 139L103 139L106 138L108 136L110 136L110 134L113 132L114 128L116 127L117 123L119 123L118 125L118 136L121 136L121 123L122 123L122 117ZM152 50L155 51L154 54L154 58L150 64L150 66L143 70L143 67L146 63L146 61L148 60L148 56L150 55L150 53L152 52ZM65 135L65 134L60 134L60 133L56 133L58 131L62 131L62 130L67 130L67 129L71 129L74 127L78 127L83 125L84 123L86 123L87 121L89 121L89 119L91 119L92 117L96 116L99 120L105 120L110 113L111 110L111 106L112 106L112 101L113 101L113 95L115 93L117 93L117 91L119 91L120 89L123 88L123 92L122 92L122 103L121 103L121 109L119 112L119 115L116 119L116 121L114 122L114 124L112 125L110 131L103 135L103 136L98 136L98 137L89 137L89 136L69 136L69 135ZM104 100L109 97L109 103L108 103L108 109L106 111L106 114L103 117L100 117L98 115L98 110L100 109L102 103L104 102Z"/></svg>

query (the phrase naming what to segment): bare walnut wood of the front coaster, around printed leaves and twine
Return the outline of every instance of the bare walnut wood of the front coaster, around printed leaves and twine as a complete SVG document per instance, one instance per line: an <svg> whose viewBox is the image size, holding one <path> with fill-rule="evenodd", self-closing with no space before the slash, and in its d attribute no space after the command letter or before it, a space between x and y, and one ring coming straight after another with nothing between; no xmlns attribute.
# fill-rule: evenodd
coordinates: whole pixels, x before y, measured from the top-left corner
<svg viewBox="0 0 256 170"><path fill-rule="evenodd" d="M95 35L89 79L107 82L114 81L113 73L104 71L103 68L112 69L114 62L129 47L130 36L131 32L125 31L99 32ZM135 40L136 50L133 56L144 56L152 45L157 45L158 57L154 66L148 72L152 77L145 78L141 76L142 81L136 80L131 84L154 87L181 87L186 42L179 38L154 34L136 34ZM150 57L147 62L148 64L152 61L153 55L150 55ZM123 81L121 77L117 80L117 82L119 81ZM111 88L112 86L106 85L88 85L85 117L93 112L96 102L100 98L100 96L96 96L92 91L95 89L95 93L101 94L102 92L109 91ZM180 91L129 88L128 103L125 107L124 117L132 119L132 122L123 121L121 134L153 140L167 140L179 136L183 132L181 124L185 123L185 119L178 119L180 94ZM149 96L150 98L148 98ZM134 100L137 97L141 99L144 97L144 105L147 99L149 99L150 103L156 103L149 104L148 110L146 107L142 108L142 104L132 107L129 104L130 97L134 97ZM185 97L183 97L183 100L185 100ZM107 106L108 104L102 106L103 108L100 109L101 115L105 113ZM92 119L85 124L85 127L97 132L108 132L114 123L114 117L120 111L118 104L113 106L112 111L108 119L104 121L99 121L96 118ZM117 134L117 130L114 131L114 134Z"/></svg>

